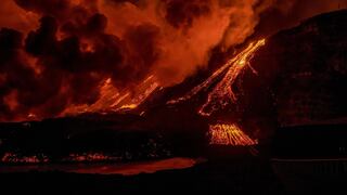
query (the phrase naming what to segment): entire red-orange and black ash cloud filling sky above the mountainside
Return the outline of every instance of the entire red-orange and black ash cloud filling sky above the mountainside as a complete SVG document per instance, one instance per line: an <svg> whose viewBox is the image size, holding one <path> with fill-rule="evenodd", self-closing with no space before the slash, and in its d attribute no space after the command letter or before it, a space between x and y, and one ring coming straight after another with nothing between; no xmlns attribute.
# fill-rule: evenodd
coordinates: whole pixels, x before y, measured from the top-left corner
<svg viewBox="0 0 347 195"><path fill-rule="evenodd" d="M164 87L179 83L206 68L216 47L268 36L345 2L3 0L0 120L93 104L108 78L119 91L149 75Z"/></svg>

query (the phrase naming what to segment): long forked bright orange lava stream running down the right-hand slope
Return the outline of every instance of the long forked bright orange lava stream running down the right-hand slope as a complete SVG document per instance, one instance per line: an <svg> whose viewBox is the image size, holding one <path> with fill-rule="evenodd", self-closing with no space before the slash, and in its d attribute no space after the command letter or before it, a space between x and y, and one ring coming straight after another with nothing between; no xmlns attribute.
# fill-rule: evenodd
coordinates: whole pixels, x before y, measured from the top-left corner
<svg viewBox="0 0 347 195"><path fill-rule="evenodd" d="M200 108L198 114L203 116L210 116L218 109L226 107L232 103L235 103L237 98L232 90L233 83L242 73L243 69L249 67L253 73L256 70L250 66L249 61L252 60L255 52L265 46L266 40L261 39L256 42L252 42L244 51L239 53L236 56L228 61L222 67L217 69L209 78L203 83L196 86L193 90L177 100L168 101L168 104L177 104L187 100L192 99L194 95L208 89L216 80L223 76L222 80L217 83L213 91L208 94L207 101Z"/></svg>

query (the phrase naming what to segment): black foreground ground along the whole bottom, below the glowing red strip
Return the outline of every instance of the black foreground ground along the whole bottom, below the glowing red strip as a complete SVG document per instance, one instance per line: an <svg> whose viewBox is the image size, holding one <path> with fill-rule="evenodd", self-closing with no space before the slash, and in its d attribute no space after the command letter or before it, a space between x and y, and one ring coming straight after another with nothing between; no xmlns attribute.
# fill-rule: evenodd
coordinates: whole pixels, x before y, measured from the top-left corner
<svg viewBox="0 0 347 195"><path fill-rule="evenodd" d="M314 164L307 161L286 167L292 170L286 172L285 181L273 169L273 162L258 157L201 160L193 167L178 169L180 165L174 165L176 168L172 170L131 176L107 171L4 173L7 171L0 170L0 194L347 194L347 177L343 174L346 171L336 168L334 171L331 162ZM319 169L316 170L317 167ZM312 169L309 174L306 173L307 168ZM79 172L83 170L79 169ZM304 185L294 186L293 191L285 182Z"/></svg>

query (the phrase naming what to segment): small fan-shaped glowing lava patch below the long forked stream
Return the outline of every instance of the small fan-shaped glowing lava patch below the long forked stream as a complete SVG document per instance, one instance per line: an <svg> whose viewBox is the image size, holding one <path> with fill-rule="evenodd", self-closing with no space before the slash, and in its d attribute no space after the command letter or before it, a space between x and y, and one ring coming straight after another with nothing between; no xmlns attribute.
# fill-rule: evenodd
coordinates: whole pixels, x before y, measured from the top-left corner
<svg viewBox="0 0 347 195"><path fill-rule="evenodd" d="M209 126L210 142L216 145L257 145L258 141L250 139L236 125Z"/></svg>

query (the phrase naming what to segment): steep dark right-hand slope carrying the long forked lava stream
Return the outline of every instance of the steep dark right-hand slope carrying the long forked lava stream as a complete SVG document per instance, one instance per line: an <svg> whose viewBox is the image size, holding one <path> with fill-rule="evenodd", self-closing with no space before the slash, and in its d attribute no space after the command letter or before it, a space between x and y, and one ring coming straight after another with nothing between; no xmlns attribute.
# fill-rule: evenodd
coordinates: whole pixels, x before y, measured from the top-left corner
<svg viewBox="0 0 347 195"><path fill-rule="evenodd" d="M146 106L166 104L208 122L239 122L258 139L271 136L275 127L344 118L345 22L342 10L253 41L209 76L165 89L164 101L152 98Z"/></svg>

